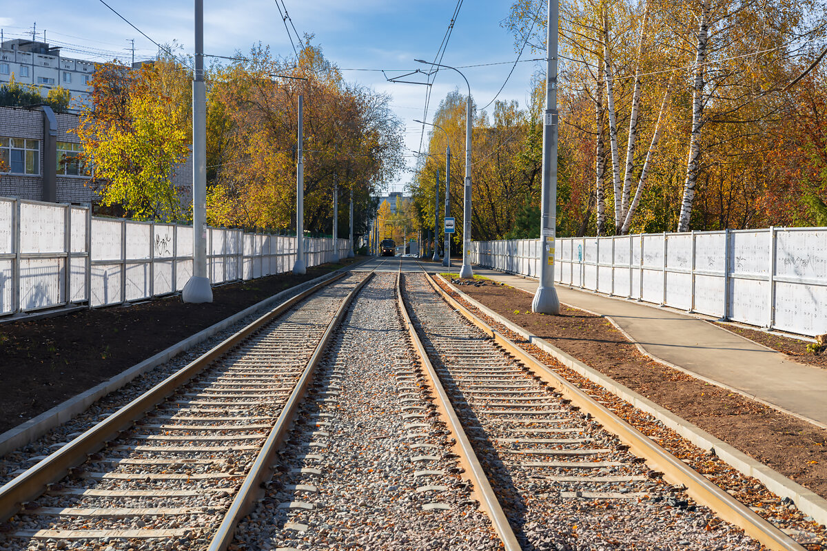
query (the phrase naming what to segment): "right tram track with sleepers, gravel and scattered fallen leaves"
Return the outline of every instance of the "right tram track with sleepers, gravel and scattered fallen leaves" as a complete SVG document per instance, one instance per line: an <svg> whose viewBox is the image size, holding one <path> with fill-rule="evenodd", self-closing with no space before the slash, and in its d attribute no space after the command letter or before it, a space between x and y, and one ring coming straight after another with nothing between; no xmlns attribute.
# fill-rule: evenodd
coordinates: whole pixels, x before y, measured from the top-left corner
<svg viewBox="0 0 827 551"><path fill-rule="evenodd" d="M523 549L803 549L657 444L632 435L637 431L461 305L434 300L435 292L427 275L404 276L424 349ZM672 465L662 468L672 483L647 463Z"/></svg>

